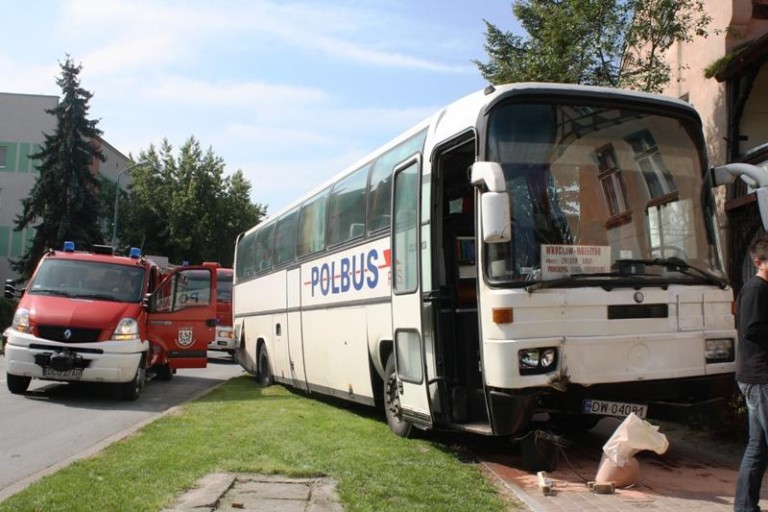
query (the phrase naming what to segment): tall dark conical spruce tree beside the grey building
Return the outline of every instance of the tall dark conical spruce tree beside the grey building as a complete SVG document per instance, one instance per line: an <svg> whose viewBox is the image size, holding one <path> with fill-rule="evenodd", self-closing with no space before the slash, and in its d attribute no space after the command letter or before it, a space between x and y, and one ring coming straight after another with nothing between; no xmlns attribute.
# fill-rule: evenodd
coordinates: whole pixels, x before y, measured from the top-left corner
<svg viewBox="0 0 768 512"><path fill-rule="evenodd" d="M99 181L91 172L96 159L104 161L100 149L101 130L97 120L88 119L92 93L80 87L81 65L67 56L61 64L61 99L46 113L56 116L53 134L44 134L43 145L29 155L38 160L39 176L29 196L22 199L22 212L16 216L15 230L35 228L32 243L11 267L29 278L43 252L61 247L65 240L77 246L102 243L99 229Z"/></svg>

